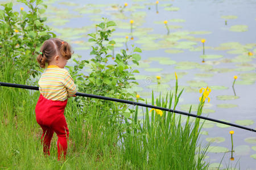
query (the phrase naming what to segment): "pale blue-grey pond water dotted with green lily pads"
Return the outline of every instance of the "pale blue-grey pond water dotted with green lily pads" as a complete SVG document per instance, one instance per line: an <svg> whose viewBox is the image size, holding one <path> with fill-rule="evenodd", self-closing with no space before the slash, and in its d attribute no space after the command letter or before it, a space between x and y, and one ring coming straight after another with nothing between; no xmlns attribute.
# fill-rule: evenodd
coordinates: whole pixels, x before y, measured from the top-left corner
<svg viewBox="0 0 256 170"><path fill-rule="evenodd" d="M203 116L255 128L255 0L159 1L158 13L155 1L148 0L44 2L48 5L44 16L49 18L53 32L70 42L75 53L84 59L93 57L89 55L92 44L87 34L96 31L95 24L102 17L114 20L117 23L117 31L113 33L117 42L115 53L126 49L125 36L129 36L129 49L134 44L143 50L140 66L134 65L140 71L135 74L139 86L133 88L142 98L150 99L151 90L155 96L159 91L166 94L172 90L176 72L179 86L185 88L177 109L188 111L190 104L196 108L201 96L199 89L209 86L212 92ZM121 13L125 2L128 6ZM134 40L130 40L131 19ZM168 21L168 35L164 20ZM205 56L201 56L201 39L206 40ZM89 71L86 69L85 74ZM156 83L157 75L161 76L160 85ZM238 78L233 90L234 75ZM224 154L231 150L230 130L234 130L233 161L230 152ZM203 131L200 138L203 145L218 137L211 146L219 148L208 154L210 167L218 167L224 156L221 168L234 167L238 162L237 169L255 169L255 133L214 122L206 122Z"/></svg>

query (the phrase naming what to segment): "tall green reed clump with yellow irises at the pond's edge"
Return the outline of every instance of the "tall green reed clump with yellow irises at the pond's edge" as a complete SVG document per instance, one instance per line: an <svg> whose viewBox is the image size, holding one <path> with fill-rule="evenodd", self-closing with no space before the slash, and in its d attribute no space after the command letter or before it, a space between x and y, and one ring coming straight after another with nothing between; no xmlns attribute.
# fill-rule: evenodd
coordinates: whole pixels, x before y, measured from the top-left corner
<svg viewBox="0 0 256 170"><path fill-rule="evenodd" d="M177 80L175 92L170 92L161 99L154 99L152 92L152 105L173 110L179 101L183 90L177 94ZM168 100L169 98L169 100ZM147 102L146 102L147 103ZM204 102L200 102L197 115L201 114ZM143 111L143 110L142 110ZM151 112L151 115L150 115ZM199 146L199 118L195 122L189 120L182 124L181 115L176 117L174 112L163 111L163 114L156 114L159 110L151 109L143 112L142 121L138 121L138 106L136 107L133 119L127 121L123 126L125 133L121 135L121 148L124 162L131 162L138 169L207 169L208 164L204 163L208 146ZM189 113L191 112L191 108ZM143 163L142 163L143 162Z"/></svg>

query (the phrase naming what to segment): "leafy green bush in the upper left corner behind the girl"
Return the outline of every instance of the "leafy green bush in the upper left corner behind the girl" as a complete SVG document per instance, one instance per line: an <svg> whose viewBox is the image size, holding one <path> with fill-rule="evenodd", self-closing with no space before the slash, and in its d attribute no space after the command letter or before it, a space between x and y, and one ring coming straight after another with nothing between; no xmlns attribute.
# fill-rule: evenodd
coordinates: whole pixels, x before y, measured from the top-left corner
<svg viewBox="0 0 256 170"><path fill-rule="evenodd" d="M41 18L46 5L42 0L20 0L28 10L20 8L19 12L13 10L13 3L6 3L0 10L0 71L13 73L27 80L32 75L38 75L39 66L36 56L42 42L55 34L49 32L49 27L44 24L47 18ZM8 82L16 82L9 78Z"/></svg>

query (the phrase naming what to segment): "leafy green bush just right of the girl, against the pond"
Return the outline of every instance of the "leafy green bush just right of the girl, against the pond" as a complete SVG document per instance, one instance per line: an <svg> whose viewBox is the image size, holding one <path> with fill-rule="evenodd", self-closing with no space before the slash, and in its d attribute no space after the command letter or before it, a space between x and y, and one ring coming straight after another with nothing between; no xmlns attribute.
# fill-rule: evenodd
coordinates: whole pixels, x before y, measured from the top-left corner
<svg viewBox="0 0 256 170"><path fill-rule="evenodd" d="M93 55L90 61L81 60L76 62L76 65L69 67L69 72L71 73L75 83L79 87L79 91L86 92L94 95L116 97L118 99L133 100L134 94L127 92L133 84L138 84L135 81L134 73L139 73L138 70L133 70L129 65L130 62L136 63L139 65L138 61L141 59L141 56L138 53L141 53L141 49L135 47L132 50L131 54L127 54L126 50L121 49L121 53L110 54L114 50L114 40L109 40L111 33L115 30L113 27L116 24L113 21L108 21L104 19L104 22L97 24L96 27L99 30L96 33L90 33L89 39L90 42L95 42L95 45L92 46L92 51L90 55ZM113 62L110 63L109 59L112 58ZM90 66L91 72L88 76L82 74L82 70L85 67L85 64ZM94 100L94 99L92 99ZM92 101L90 101L92 102ZM88 105L88 100L81 99L79 101L80 105ZM109 103L108 101L98 101L98 105L103 103ZM113 109L115 106L112 103L110 104L110 109ZM127 106L125 104L119 104L119 113L126 113L129 117L129 112L126 111Z"/></svg>

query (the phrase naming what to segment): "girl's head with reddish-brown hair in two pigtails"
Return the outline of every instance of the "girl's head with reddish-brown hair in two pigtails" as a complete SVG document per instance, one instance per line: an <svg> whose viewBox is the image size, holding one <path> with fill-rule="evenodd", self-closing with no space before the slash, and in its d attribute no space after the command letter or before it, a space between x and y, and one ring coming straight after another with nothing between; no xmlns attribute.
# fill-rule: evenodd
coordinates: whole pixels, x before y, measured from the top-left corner
<svg viewBox="0 0 256 170"><path fill-rule="evenodd" d="M42 68L46 67L46 63L64 68L72 54L73 51L68 42L54 38L44 41L36 59Z"/></svg>

